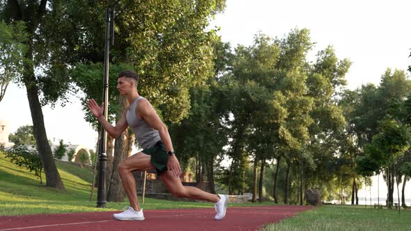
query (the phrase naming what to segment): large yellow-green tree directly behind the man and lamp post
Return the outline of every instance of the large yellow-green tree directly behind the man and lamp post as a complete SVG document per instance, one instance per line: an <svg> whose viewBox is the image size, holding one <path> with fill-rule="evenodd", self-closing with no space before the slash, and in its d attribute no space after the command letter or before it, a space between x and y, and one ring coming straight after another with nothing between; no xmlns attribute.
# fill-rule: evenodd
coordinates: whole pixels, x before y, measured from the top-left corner
<svg viewBox="0 0 411 231"><path fill-rule="evenodd" d="M136 70L141 77L139 93L148 98L167 123L179 122L187 117L190 99L189 89L203 83L212 75L213 30L207 30L208 20L224 8L225 1L132 1L116 19L116 42L111 47L109 92L116 93L116 74L124 69ZM86 109L86 99L100 98L102 92L102 57L104 42L101 40L106 3L85 3L75 7L81 11L77 20L82 58L73 72L73 79L86 93L83 105L86 120L95 123ZM124 7L120 2L118 8ZM161 10L159 10L161 9ZM74 14L75 15L75 14ZM133 15L128 17L125 15ZM86 42L83 42L86 41ZM93 49L89 49L92 45ZM121 68L119 68L121 67ZM114 70L116 69L116 70ZM96 87L98 86L98 87ZM124 104L110 95L110 122L122 116ZM109 194L121 191L116 164L130 155L134 136L125 132L116 139L114 170L108 170ZM110 164L110 162L109 162ZM111 174L110 174L111 173ZM111 184L114 182L114 184ZM110 187L116 189L111 190ZM123 193L120 195L121 200ZM108 195L108 198L113 198Z"/></svg>

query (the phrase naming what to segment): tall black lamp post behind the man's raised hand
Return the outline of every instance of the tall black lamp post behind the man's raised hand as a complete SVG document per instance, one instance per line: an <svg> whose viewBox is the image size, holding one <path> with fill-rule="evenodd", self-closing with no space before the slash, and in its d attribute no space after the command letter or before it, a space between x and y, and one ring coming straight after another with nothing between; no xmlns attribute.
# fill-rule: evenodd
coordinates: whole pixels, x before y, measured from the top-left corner
<svg viewBox="0 0 411 231"><path fill-rule="evenodd" d="M110 32L112 38L112 44L114 45L114 19L120 15L123 10L132 3L130 0L127 5L116 15L116 5L120 0L106 9L106 38L105 38L105 48L104 48L104 81L103 81L103 102L104 102L104 118L108 118L108 99L109 99L109 54L110 54ZM106 207L106 177L105 171L107 166L107 132L104 128L100 127L100 154L99 154L99 163L100 168L98 168L99 180L98 180L98 193L97 193L97 207L104 208Z"/></svg>

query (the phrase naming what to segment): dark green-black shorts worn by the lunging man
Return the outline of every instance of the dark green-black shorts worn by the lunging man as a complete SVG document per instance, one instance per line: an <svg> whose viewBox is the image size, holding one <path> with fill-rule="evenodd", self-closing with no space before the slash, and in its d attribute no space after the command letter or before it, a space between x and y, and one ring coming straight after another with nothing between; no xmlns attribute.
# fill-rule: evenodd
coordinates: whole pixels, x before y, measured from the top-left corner
<svg viewBox="0 0 411 231"><path fill-rule="evenodd" d="M158 141L153 147L145 149L141 152L151 156L150 162L155 167L157 175L166 173L167 163L169 162L169 154L167 154L166 148L164 147L162 141Z"/></svg>

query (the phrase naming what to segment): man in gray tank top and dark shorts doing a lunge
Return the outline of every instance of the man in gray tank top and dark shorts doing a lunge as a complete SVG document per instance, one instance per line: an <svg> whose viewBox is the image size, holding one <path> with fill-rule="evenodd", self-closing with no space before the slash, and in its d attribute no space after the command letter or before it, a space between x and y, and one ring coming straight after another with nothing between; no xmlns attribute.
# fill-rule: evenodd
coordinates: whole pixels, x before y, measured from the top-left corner
<svg viewBox="0 0 411 231"><path fill-rule="evenodd" d="M169 131L150 102L139 95L138 83L139 76L131 70L118 74L117 89L120 95L127 98L130 106L123 111L122 118L115 126L107 122L103 116L104 103L98 106L94 99L88 100L88 109L111 137L118 138L130 126L137 141L144 148L143 151L128 157L118 165L118 173L120 173L123 188L130 201L130 207L126 207L127 209L120 214L114 214L114 218L144 220L143 209L137 200L136 183L132 171L155 169L157 175L174 196L214 202L217 211L215 220L221 220L226 215L228 196L215 195L195 187L183 186L180 181L180 164L174 153Z"/></svg>

